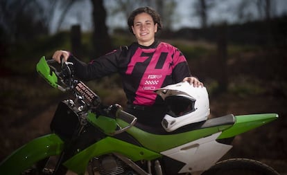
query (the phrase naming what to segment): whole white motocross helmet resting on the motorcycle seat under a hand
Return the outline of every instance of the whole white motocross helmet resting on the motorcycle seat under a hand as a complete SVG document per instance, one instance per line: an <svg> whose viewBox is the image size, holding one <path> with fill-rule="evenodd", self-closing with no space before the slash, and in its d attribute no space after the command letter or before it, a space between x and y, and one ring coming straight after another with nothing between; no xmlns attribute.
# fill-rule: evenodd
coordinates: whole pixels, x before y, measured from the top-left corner
<svg viewBox="0 0 287 175"><path fill-rule="evenodd" d="M162 97L168 112L162 120L166 131L207 120L210 114L209 98L205 87L193 87L189 82L171 84L155 91Z"/></svg>

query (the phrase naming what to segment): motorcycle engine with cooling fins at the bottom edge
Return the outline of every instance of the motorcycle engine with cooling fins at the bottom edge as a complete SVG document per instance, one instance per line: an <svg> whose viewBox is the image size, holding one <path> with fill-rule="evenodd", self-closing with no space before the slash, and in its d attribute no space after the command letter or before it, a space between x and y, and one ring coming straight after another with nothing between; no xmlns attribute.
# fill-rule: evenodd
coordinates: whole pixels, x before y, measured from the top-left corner
<svg viewBox="0 0 287 175"><path fill-rule="evenodd" d="M130 167L116 156L105 155L98 158L96 167L101 175L134 174Z"/></svg>

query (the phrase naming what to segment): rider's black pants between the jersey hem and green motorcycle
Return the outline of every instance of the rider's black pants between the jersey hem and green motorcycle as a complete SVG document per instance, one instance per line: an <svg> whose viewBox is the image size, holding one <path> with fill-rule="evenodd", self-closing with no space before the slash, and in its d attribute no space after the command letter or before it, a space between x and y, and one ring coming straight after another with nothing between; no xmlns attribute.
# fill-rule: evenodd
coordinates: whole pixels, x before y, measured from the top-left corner
<svg viewBox="0 0 287 175"><path fill-rule="evenodd" d="M166 115L166 107L164 105L155 105L152 107L128 104L125 109L128 113L137 117L137 122L150 127L159 127L162 118Z"/></svg>

